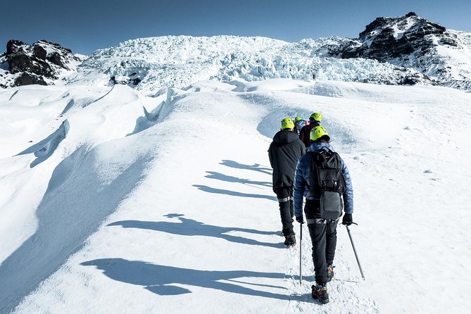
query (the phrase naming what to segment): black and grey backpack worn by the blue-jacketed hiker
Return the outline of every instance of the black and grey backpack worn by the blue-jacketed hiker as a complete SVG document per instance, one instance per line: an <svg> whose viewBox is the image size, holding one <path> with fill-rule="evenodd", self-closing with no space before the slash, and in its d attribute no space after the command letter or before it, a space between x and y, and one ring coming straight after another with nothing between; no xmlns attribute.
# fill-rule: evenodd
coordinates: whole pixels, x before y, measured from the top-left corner
<svg viewBox="0 0 471 314"><path fill-rule="evenodd" d="M345 180L340 156L327 148L309 153L309 194L320 199L320 217L335 220L344 209L341 195L345 191Z"/></svg>

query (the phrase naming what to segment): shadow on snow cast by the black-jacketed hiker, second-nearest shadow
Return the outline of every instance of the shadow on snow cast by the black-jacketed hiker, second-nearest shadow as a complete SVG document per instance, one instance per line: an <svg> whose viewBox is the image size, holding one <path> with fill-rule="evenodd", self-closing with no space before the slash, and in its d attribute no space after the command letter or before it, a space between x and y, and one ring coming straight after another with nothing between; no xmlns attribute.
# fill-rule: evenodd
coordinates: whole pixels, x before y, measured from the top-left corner
<svg viewBox="0 0 471 314"><path fill-rule="evenodd" d="M284 245L278 243L260 242L253 239L239 237L227 232L247 232L253 234L277 234L271 231L260 231L254 229L246 229L239 227L219 227L214 225L206 225L193 219L183 218L182 215L169 214L167 217L178 218L180 222L166 222L166 221L140 221L140 220L123 220L109 224L108 226L122 226L123 228L137 228L146 230L156 230L161 232L168 232L170 234L179 234L184 236L204 236L204 237L217 237L225 239L226 241L249 244L270 246L274 248L284 248Z"/></svg>

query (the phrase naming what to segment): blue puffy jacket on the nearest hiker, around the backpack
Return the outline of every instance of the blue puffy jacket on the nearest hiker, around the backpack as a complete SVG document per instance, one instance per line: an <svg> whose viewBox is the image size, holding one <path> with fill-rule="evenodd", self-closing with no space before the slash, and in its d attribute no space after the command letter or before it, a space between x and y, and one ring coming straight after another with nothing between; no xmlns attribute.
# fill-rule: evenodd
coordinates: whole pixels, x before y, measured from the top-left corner
<svg viewBox="0 0 471 314"><path fill-rule="evenodd" d="M327 142L313 142L310 144L308 151L318 151L322 147L327 147L331 151L334 151L334 148ZM303 196L308 195L309 192L309 173L310 173L310 158L311 154L306 153L299 159L298 164L296 165L296 172L294 173L294 188L293 188L293 197L294 197L294 215L300 217L303 215ZM345 213L353 213L353 187L351 185L350 173L344 160L340 158L342 165L342 175L345 179L345 191L344 191L344 211ZM306 200L314 200L313 196L306 197Z"/></svg>

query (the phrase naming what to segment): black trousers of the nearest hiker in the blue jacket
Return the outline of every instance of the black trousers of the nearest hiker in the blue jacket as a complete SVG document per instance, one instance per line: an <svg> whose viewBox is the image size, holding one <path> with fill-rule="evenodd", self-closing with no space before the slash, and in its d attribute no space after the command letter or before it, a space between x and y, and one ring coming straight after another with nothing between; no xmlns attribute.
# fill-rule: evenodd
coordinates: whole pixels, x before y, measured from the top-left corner
<svg viewBox="0 0 471 314"><path fill-rule="evenodd" d="M339 220L325 220L318 215L319 201L306 201L304 211L310 241L313 243L315 282L327 282L327 265L334 263L337 246L337 223ZM311 216L313 215L313 216Z"/></svg>

